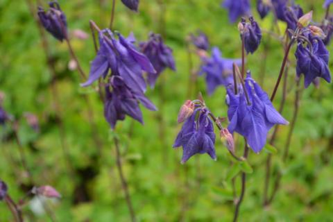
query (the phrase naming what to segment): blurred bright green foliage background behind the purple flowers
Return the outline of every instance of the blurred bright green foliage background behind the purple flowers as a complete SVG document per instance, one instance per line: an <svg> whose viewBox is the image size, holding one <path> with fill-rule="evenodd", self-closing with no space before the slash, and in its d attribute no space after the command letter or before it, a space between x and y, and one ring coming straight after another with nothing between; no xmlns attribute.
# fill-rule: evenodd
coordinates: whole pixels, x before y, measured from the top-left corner
<svg viewBox="0 0 333 222"><path fill-rule="evenodd" d="M42 3L46 5L46 1ZM59 0L59 3L67 15L71 33L79 29L89 35L89 19L101 28L110 22L111 0ZM67 45L46 35L56 69L56 77L51 78L40 33L26 1L0 0L0 91L6 94L3 108L19 119L18 135L35 185L52 185L62 194L60 200L47 202L57 221L130 221L116 169L114 136L121 141L123 171L138 221L231 221L234 212L231 178L239 170L234 170L230 164L232 159L225 146L216 140L216 162L208 155L198 155L184 165L180 164L181 149L172 148L181 127L176 121L180 105L186 99L195 99L197 92L203 92L214 114L226 116L223 87L207 96L205 80L200 76L197 92L193 92L191 98L188 94L190 65L186 39L189 33L200 29L208 35L211 45L221 49L223 57L241 57L237 24L229 24L228 13L220 3L220 0L164 0L161 15L162 10L154 0L142 0L138 13L117 1L114 29L123 35L133 31L138 41L146 40L150 31L163 31L165 42L173 49L177 71L164 71L155 89L148 90L148 98L159 111L143 110L144 126L127 117L117 123L117 130L112 132L103 117L98 94L93 88L80 88L78 72L69 69ZM323 18L323 1L296 3L305 12L313 9L314 21L320 22ZM260 20L255 1L252 6L259 25L271 30L272 14ZM161 24L161 16L164 24ZM279 26L284 30L284 24ZM71 42L80 64L88 72L89 62L95 55L92 37L79 40L71 35ZM332 44L328 49L332 51ZM294 50L289 57L288 95L283 112L288 120L292 117L295 92ZM253 77L258 79L264 74L262 87L268 94L278 76L283 53L282 44L264 32L259 50L247 57L247 68ZM191 53L191 59L194 70L198 70L198 56ZM331 70L332 62L330 58ZM58 91L58 108L52 96L52 82ZM89 123L85 98L92 107L96 126ZM280 99L281 89L274 103L276 107ZM28 126L24 119L26 112L37 115L39 133ZM59 122L63 124L63 132L60 132ZM280 190L268 207L262 206L268 153L250 152L248 162L253 173L248 173L240 221L333 220L332 85L321 82L318 89L311 85L302 91L290 156L283 164L280 160L288 130L288 126L282 126L278 131L275 143L278 153L273 155L272 169L281 171L283 176ZM0 136L0 178L7 182L12 198L19 200L33 185L20 164L19 147L10 124L1 126ZM71 167L64 158L60 137L65 138ZM241 138L238 140L240 142ZM241 147L237 146L239 155ZM235 187L239 194L239 176ZM28 202L23 212L26 221L49 221L38 200ZM5 203L0 203L0 221L11 220Z"/></svg>

